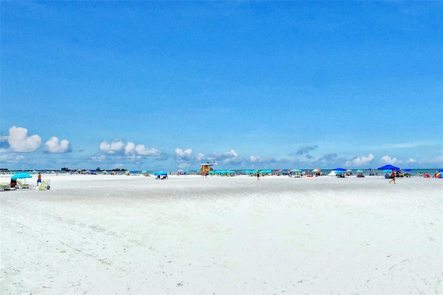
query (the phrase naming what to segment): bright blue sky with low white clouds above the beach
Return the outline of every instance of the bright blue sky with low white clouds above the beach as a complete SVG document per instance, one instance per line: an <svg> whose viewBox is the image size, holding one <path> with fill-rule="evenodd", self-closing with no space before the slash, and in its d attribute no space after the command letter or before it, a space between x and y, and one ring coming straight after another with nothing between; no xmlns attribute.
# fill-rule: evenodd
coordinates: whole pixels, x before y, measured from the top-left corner
<svg viewBox="0 0 443 295"><path fill-rule="evenodd" d="M1 1L1 168L442 168L442 1Z"/></svg>

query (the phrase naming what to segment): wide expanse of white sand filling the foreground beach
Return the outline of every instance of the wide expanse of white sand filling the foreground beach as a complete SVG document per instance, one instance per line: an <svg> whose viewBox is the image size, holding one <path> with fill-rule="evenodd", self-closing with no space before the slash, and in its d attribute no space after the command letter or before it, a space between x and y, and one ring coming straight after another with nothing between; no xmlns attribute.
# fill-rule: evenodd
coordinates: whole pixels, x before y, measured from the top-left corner
<svg viewBox="0 0 443 295"><path fill-rule="evenodd" d="M0 193L1 294L443 294L443 179L43 178Z"/></svg>

